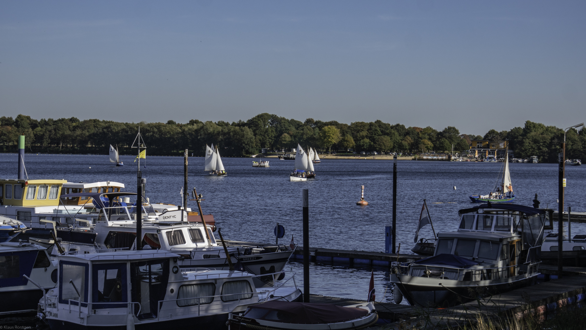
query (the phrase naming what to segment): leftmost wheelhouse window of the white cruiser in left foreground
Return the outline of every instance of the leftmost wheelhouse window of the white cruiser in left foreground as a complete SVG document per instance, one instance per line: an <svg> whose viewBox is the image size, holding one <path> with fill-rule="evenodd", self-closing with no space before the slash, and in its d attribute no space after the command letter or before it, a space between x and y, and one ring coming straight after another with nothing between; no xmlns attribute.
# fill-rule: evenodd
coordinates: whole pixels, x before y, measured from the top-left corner
<svg viewBox="0 0 586 330"><path fill-rule="evenodd" d="M81 262L60 261L60 268L59 302L67 304L69 299L71 299L71 305L77 305L79 299L87 302L88 265ZM72 283L75 284L75 288Z"/></svg>

